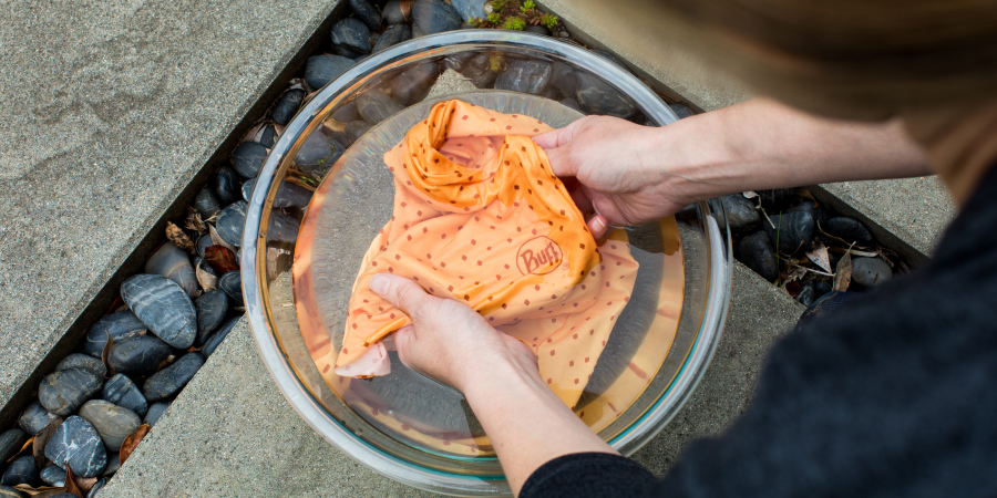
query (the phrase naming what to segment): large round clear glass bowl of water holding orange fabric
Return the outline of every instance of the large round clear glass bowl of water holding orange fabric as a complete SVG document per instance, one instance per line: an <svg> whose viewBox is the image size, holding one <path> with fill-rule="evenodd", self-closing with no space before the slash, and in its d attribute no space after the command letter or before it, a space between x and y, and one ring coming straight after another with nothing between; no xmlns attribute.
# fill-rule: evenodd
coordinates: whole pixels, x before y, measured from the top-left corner
<svg viewBox="0 0 997 498"><path fill-rule="evenodd" d="M270 375L291 406L330 444L371 469L417 488L501 496L510 494L508 485L486 436L480 434L480 427L467 427L473 425L473 415L461 412L460 393L405 373L401 365L393 366L395 377L390 381L377 377L359 384L323 376L312 359L318 342L338 351L339 315L345 307L340 310L337 303L348 299L359 258L391 215L393 187L386 180L390 175L379 174L386 169L380 156L433 102L450 97L518 112L555 127L584 113L615 114L659 126L676 120L654 92L623 68L549 38L462 30L392 46L310 95L271 149L246 212L243 291L249 325ZM574 102L565 101L568 97ZM309 179L323 176L320 186ZM315 187L326 201L306 212L300 208L301 197L307 198ZM291 190L295 200L289 200L295 198ZM322 302L328 309L317 314L325 317L322 328L328 335L315 335L314 324L299 325L302 310L296 308L291 277L299 225L305 217L320 216L328 222L308 232L312 236L309 240L318 239L307 246L310 259L335 261L343 268L342 276L327 268L315 270L321 280L315 286L321 288L317 292L327 292ZM309 229L309 224L305 226ZM614 329L602 357L611 360L597 363L603 375L596 382L593 374L589 392L575 409L613 447L629 455L675 416L709 364L729 302L730 236L720 204L711 201L661 224L628 227L625 234L635 257L645 258L641 271L650 291L635 290L635 299L625 310L633 308L634 319L627 326ZM651 298L638 299L645 293ZM412 388L419 390L421 400L441 406L439 413L420 418L424 406L392 405L391 397L397 397L392 393L398 391L391 391L391 382L415 386ZM448 409L458 416L440 415ZM419 428L426 417L449 422ZM456 428L442 427L454 419ZM413 427L419 429L410 430ZM454 430L471 437L454 437ZM463 443L460 448L471 453L454 449L451 442L458 440Z"/></svg>

